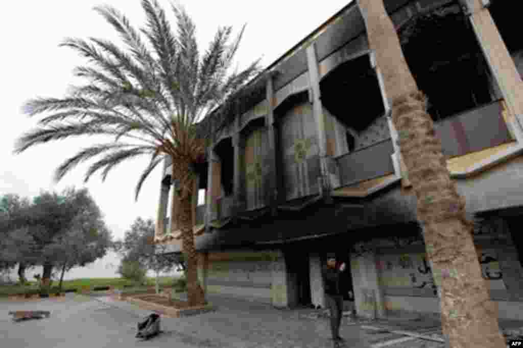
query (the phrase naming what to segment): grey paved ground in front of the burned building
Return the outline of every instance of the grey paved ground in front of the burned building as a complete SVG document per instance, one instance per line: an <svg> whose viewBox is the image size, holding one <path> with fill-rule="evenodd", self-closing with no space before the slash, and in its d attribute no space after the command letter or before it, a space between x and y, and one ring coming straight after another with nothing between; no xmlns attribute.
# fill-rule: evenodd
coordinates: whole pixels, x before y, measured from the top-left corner
<svg viewBox="0 0 523 348"><path fill-rule="evenodd" d="M323 348L332 347L329 321L311 316L314 310L278 310L270 305L212 296L219 310L185 318L162 318L162 333L150 341L134 338L137 322L150 314L128 302L110 297L68 294L31 302L0 302L0 342L2 347L25 348ZM12 310L49 310L51 317L15 323ZM410 320L405 320L410 319ZM521 327L521 323L511 323ZM351 348L379 347L404 335L364 330L360 326L440 334L437 319L354 321L345 317L340 334ZM424 340L408 340L390 348L439 348L444 345Z"/></svg>

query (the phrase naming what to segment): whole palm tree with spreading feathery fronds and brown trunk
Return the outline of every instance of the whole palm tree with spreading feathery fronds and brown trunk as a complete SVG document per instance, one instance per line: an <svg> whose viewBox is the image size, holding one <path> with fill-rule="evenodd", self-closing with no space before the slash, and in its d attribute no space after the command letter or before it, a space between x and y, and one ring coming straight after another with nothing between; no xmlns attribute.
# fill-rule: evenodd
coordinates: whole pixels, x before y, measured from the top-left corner
<svg viewBox="0 0 523 348"><path fill-rule="evenodd" d="M150 162L139 177L135 199L158 163L172 158L172 178L181 184L178 226L188 261L189 304L202 305L204 294L197 280L191 226L195 164L204 160L212 137L230 122L236 100L233 97L258 73L259 60L240 72L229 73L245 26L232 43L232 27L219 28L208 50L200 54L195 25L185 9L171 4L176 17L174 31L156 0L142 0L141 5L146 26L140 30L115 8L95 7L118 31L125 50L104 39L63 41L61 46L78 51L92 63L74 70L76 76L88 82L73 87L66 98L26 102L26 114L50 114L18 139L15 153L51 140L109 136L110 141L89 146L66 159L56 169L55 180L58 182L79 163L96 157L86 171L85 182L97 172L105 180L118 164L145 155ZM173 199L175 195L173 190Z"/></svg>

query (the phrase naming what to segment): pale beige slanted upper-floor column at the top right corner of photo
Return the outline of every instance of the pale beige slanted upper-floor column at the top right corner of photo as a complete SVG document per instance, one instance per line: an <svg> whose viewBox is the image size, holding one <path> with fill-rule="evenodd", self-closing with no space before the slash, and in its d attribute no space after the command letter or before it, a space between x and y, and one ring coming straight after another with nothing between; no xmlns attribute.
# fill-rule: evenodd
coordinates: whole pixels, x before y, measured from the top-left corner
<svg viewBox="0 0 523 348"><path fill-rule="evenodd" d="M462 0L470 14L470 22L477 40L496 79L508 109L510 133L518 141L523 141L523 81L518 73L514 59L492 19L488 8L481 0Z"/></svg>

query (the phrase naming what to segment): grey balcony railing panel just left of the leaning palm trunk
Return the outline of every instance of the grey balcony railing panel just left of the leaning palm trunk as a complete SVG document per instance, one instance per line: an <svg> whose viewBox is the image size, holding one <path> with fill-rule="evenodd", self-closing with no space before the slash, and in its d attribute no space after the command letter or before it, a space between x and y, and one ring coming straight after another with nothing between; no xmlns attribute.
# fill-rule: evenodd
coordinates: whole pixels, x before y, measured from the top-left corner
<svg viewBox="0 0 523 348"><path fill-rule="evenodd" d="M393 174L394 164L391 158L393 152L394 147L389 138L337 157L335 160L339 166L341 185L350 185Z"/></svg>

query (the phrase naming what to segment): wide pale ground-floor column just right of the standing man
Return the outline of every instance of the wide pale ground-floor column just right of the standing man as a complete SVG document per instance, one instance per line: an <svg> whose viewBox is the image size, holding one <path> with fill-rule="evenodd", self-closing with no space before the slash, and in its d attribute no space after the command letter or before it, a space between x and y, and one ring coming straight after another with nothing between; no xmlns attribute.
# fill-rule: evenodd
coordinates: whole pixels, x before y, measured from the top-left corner
<svg viewBox="0 0 523 348"><path fill-rule="evenodd" d="M366 318L385 318L385 301L381 290L376 255L350 257L350 271L353 276L356 313Z"/></svg>

